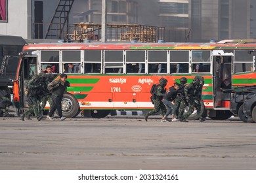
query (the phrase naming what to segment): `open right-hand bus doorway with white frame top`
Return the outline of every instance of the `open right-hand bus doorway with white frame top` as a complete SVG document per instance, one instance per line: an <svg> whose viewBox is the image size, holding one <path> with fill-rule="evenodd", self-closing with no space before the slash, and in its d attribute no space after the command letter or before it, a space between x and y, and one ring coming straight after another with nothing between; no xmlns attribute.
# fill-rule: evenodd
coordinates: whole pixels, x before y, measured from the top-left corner
<svg viewBox="0 0 256 183"><path fill-rule="evenodd" d="M216 51L216 52L215 52ZM230 100L223 90L232 88L232 53L223 50L213 51L213 107L226 107L223 101Z"/></svg>

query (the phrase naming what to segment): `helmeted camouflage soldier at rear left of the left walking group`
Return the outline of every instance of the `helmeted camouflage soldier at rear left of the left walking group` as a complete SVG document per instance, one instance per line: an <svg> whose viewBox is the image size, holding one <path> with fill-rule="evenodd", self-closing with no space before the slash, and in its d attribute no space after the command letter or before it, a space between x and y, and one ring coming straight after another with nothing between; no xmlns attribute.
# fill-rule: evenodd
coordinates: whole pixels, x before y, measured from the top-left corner
<svg viewBox="0 0 256 183"><path fill-rule="evenodd" d="M30 115L33 113L37 117L37 120L40 121L43 116L40 114L40 95L42 95L42 87L39 85L39 76L33 75L32 79L28 82L28 104L29 108L22 114L21 120L24 121L24 118L30 119Z"/></svg>

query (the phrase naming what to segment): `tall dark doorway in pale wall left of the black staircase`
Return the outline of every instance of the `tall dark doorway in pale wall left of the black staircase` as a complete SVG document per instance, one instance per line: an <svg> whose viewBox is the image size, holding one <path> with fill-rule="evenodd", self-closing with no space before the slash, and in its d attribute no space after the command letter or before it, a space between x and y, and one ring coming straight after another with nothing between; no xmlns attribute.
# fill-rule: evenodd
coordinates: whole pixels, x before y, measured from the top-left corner
<svg viewBox="0 0 256 183"><path fill-rule="evenodd" d="M43 1L35 1L34 15L34 39L43 39Z"/></svg>

